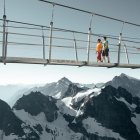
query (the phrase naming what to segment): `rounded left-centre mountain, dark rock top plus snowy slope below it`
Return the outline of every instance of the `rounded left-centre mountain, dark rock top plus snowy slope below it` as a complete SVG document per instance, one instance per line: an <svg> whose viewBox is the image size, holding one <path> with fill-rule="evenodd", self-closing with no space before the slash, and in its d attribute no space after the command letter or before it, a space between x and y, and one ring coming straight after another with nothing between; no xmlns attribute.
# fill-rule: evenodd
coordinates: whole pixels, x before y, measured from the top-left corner
<svg viewBox="0 0 140 140"><path fill-rule="evenodd" d="M57 101L40 92L31 92L17 101L13 111L39 134L41 140L70 140L72 137L80 140L82 134L75 134L68 127L68 122L63 117L65 111L58 107L64 107L61 100Z"/></svg>

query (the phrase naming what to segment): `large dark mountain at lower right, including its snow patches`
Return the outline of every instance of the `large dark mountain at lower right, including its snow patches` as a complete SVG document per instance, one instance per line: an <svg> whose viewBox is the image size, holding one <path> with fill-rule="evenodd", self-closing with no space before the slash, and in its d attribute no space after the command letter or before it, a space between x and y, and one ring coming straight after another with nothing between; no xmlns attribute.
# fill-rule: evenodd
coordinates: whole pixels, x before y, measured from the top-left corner
<svg viewBox="0 0 140 140"><path fill-rule="evenodd" d="M124 95L131 97L130 102L127 102L129 100ZM75 132L84 133L88 139L96 137L107 140L115 138L138 140L140 139L140 129L133 119L136 119L136 122L140 119L140 113L136 111L136 108L140 107L140 102L135 103L135 99L125 89L107 86L101 91L101 94L91 97L85 103L81 108L82 115L78 116L75 123L72 122L69 126ZM133 107L132 104L135 106Z"/></svg>

